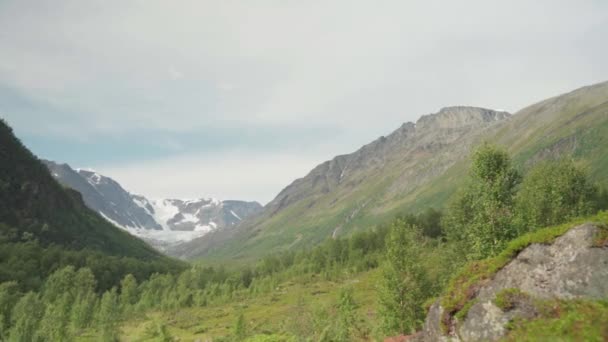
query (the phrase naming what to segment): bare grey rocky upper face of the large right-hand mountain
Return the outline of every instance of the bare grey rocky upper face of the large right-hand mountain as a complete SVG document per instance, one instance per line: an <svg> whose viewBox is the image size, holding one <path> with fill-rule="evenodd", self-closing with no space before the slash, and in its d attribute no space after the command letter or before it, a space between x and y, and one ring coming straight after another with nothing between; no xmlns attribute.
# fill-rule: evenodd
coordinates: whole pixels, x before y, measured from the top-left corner
<svg viewBox="0 0 608 342"><path fill-rule="evenodd" d="M265 211L274 214L292 203L327 194L339 187L353 188L371 173L395 163L403 163L406 170L412 170L403 174L404 179L395 182L394 190L410 190L462 157L459 151L466 151L484 128L510 116L507 112L478 107L442 108L436 114L422 116L415 124L403 124L390 135L380 137L354 153L337 156L317 166L306 177L281 191ZM452 145L457 141L460 143ZM410 162L420 162L431 153L441 154L441 157L425 165L424 173L413 170L414 165Z"/></svg>

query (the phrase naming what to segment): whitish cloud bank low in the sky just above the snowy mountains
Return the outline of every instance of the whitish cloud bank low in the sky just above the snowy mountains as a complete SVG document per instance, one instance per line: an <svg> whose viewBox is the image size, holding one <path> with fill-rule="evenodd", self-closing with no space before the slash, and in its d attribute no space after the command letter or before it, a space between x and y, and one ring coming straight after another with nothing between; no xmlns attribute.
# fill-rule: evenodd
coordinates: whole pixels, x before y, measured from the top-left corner
<svg viewBox="0 0 608 342"><path fill-rule="evenodd" d="M322 154L187 155L120 166L95 165L129 191L150 198L217 197L269 202L284 186L303 177Z"/></svg>

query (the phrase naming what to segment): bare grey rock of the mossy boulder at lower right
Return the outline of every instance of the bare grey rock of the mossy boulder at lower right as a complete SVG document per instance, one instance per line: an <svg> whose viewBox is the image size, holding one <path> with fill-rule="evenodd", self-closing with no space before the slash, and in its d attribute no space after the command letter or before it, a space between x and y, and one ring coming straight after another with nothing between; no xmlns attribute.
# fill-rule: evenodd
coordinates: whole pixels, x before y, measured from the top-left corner
<svg viewBox="0 0 608 342"><path fill-rule="evenodd" d="M420 341L496 341L506 334L515 316L527 317L525 307L504 312L494 304L504 289L519 289L532 298L605 299L608 297L608 248L594 247L598 227L587 223L571 229L552 245L533 244L498 271L478 291L463 322L451 336L443 334L443 309L435 303L429 310Z"/></svg>

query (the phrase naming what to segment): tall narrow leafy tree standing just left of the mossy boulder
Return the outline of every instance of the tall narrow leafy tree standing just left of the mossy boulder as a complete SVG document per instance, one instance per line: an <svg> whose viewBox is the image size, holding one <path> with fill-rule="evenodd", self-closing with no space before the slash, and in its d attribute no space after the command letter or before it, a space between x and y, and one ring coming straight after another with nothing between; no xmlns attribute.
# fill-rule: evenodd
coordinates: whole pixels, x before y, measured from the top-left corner
<svg viewBox="0 0 608 342"><path fill-rule="evenodd" d="M386 261L379 288L380 316L385 333L410 333L424 318L422 304L429 282L420 263L420 231L396 220L386 238Z"/></svg>

